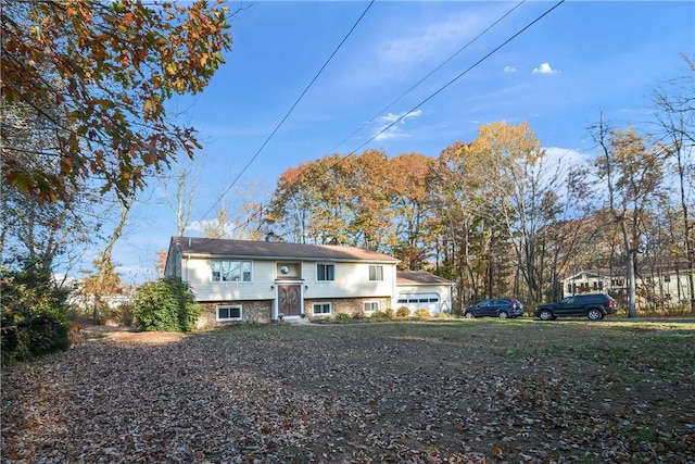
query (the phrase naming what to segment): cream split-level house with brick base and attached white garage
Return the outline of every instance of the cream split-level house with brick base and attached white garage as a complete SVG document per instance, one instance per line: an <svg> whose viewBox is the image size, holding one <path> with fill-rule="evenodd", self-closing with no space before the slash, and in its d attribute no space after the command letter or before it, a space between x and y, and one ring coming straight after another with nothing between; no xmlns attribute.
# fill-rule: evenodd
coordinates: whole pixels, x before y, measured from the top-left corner
<svg viewBox="0 0 695 464"><path fill-rule="evenodd" d="M164 274L191 285L201 326L451 308L450 283L399 262L356 247L173 237Z"/></svg>

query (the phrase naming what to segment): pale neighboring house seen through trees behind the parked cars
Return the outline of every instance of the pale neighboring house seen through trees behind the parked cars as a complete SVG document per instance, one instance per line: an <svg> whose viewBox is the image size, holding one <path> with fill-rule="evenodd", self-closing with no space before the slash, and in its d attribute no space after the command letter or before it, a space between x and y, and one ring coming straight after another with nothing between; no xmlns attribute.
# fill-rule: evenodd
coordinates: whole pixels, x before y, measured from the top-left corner
<svg viewBox="0 0 695 464"><path fill-rule="evenodd" d="M688 301L687 272L683 268L641 269L636 276L637 297L644 304L671 305ZM582 271L563 280L565 297L580 293L627 296L628 280L623 269Z"/></svg>

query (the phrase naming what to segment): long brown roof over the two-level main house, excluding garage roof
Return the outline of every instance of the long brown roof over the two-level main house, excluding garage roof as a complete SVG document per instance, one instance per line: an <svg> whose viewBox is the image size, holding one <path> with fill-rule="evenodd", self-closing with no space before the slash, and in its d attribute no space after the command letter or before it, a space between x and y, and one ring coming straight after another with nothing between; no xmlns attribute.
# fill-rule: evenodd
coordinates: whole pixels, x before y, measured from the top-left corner
<svg viewBox="0 0 695 464"><path fill-rule="evenodd" d="M172 246L191 256L247 258L262 260L369 261L399 263L388 254L357 247L287 243L283 241L227 240L172 237Z"/></svg>

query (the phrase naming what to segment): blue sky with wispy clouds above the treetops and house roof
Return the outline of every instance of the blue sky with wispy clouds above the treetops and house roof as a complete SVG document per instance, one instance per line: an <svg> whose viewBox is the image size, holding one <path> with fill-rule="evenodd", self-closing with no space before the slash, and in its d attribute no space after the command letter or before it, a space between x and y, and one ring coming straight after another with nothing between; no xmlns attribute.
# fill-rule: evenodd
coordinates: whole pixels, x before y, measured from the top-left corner
<svg viewBox="0 0 695 464"><path fill-rule="evenodd" d="M694 2L566 1L473 66L555 2L376 1L258 151L368 4L228 3L243 9L231 20L227 63L203 93L172 105L203 142L193 221L213 218L226 190L232 208L244 191L267 198L285 170L305 161L365 149L438 156L492 122L526 121L544 147L590 154L586 128L602 112L619 127L649 121L653 90L685 75L681 53L695 51ZM163 187L143 198L114 253L126 281L152 278L155 252L176 231Z"/></svg>

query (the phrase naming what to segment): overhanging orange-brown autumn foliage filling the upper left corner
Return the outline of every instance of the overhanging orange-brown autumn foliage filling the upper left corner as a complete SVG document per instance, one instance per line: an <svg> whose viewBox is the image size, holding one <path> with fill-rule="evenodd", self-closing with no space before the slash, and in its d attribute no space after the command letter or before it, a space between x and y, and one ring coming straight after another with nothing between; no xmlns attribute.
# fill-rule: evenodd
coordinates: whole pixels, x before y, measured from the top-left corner
<svg viewBox="0 0 695 464"><path fill-rule="evenodd" d="M92 179L127 199L177 152L192 156L194 130L173 123L165 102L200 92L222 65L231 46L226 12L203 0L3 2L3 102L22 105L56 141L3 143L5 181L40 202L67 200Z"/></svg>

